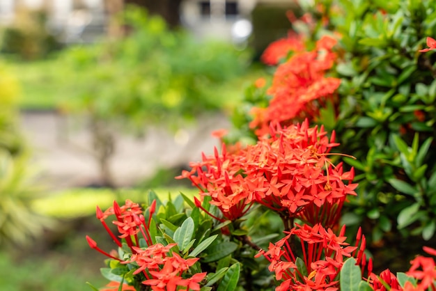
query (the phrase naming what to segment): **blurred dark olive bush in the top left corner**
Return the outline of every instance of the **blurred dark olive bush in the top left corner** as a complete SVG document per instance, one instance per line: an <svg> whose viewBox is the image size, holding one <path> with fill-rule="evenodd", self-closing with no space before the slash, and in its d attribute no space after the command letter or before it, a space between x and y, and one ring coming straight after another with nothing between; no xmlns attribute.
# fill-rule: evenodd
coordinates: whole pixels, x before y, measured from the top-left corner
<svg viewBox="0 0 436 291"><path fill-rule="evenodd" d="M13 23L3 28L0 43L1 52L27 61L43 58L60 48L47 30L47 13L24 7L17 9Z"/></svg>

